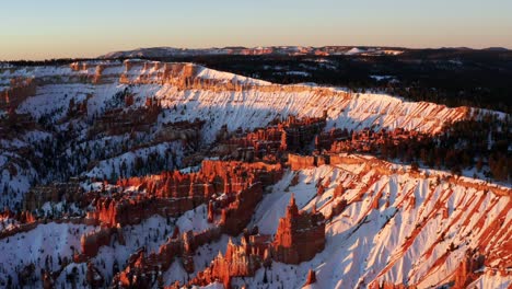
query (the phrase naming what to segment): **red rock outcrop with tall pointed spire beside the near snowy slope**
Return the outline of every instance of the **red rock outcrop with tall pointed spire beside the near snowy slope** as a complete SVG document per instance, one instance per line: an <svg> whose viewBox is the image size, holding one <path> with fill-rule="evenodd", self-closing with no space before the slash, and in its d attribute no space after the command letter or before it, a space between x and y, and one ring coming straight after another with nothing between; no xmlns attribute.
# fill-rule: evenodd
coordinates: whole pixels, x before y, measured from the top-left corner
<svg viewBox="0 0 512 289"><path fill-rule="evenodd" d="M220 280L224 288L231 288L232 277L253 277L261 266L270 266L272 259L287 264L312 259L325 247L324 217L316 211L299 211L292 195L286 217L279 221L274 242L270 240L270 235L259 235L257 229L251 234L244 234L241 245L230 240L225 254L219 253L189 286L207 286ZM310 273L306 285L315 281L314 273Z"/></svg>

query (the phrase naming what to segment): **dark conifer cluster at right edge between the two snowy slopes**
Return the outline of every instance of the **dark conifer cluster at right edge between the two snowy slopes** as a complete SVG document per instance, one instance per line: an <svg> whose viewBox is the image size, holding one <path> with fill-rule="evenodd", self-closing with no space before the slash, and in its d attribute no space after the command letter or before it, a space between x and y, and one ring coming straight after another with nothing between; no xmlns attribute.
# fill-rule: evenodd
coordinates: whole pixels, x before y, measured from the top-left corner
<svg viewBox="0 0 512 289"><path fill-rule="evenodd" d="M418 134L396 139L392 134L380 131L375 140L360 146L356 132L342 151L368 152L385 160L399 160L418 166L447 169L454 174L462 170L476 169L484 176L507 182L512 178L512 119L485 116L479 120L464 120L445 126L443 134L431 137ZM373 132L370 132L373 134ZM379 140L376 140L379 139Z"/></svg>

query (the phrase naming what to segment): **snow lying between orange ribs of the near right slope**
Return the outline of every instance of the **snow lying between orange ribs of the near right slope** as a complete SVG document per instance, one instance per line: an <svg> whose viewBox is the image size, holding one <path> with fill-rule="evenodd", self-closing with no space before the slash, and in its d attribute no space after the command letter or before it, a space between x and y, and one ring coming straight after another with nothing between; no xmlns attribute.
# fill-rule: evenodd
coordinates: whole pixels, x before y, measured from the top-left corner
<svg viewBox="0 0 512 289"><path fill-rule="evenodd" d="M349 206L341 215L327 222L327 242L322 253L296 266L275 263L271 273L267 271L267 276L272 275L274 278L270 285L261 282L264 269L260 269L254 278L245 278L245 282L252 287L277 288L284 284L284 288L298 288L304 284L310 268L316 270L318 288L365 287L373 280L417 284L421 288L440 285L458 267L466 250L477 246L479 234L485 231L474 230L477 220L487 216L484 224L486 228L497 218L499 211L505 209L508 203L507 197L485 194L469 187L443 182L435 185L434 172L430 172L428 178L416 178L407 173L389 176L375 174L373 170L364 173L354 165L323 165L301 170L299 184L289 186L294 174L295 172L287 172L256 210L254 224L263 233L275 232L291 192L295 193L299 208L310 210L316 204L324 215L330 212L333 201L345 198L349 200ZM374 176L377 177L376 182L368 190L361 190ZM329 177L330 185L323 196L317 197L314 184ZM359 181L353 183L352 180ZM356 187L347 189L339 199L329 203L338 184L354 184ZM447 189L449 187L452 189ZM383 192L380 208L371 209L370 205L380 190ZM362 201L350 201L361 193ZM411 197L416 198L416 206L411 206ZM496 198L499 198L499 203L489 206ZM443 220L437 204L446 199L445 206L450 212L449 219ZM478 199L484 201L478 203ZM386 201L389 207L385 206ZM508 219L512 218L510 212L507 216ZM470 222L465 222L467 219ZM418 235L411 235L418 226L421 226L421 231ZM444 241L438 242L443 231ZM467 233L472 235L469 242L465 242L467 239L464 235ZM412 243L406 245L410 238L414 238ZM457 245L457 248L434 269L435 261L446 252L451 243ZM426 255L431 247L431 255ZM432 270L435 273L432 274ZM479 288L482 285L488 288L504 288L510 284L510 278L481 278ZM237 279L236 284L242 285L243 281Z"/></svg>

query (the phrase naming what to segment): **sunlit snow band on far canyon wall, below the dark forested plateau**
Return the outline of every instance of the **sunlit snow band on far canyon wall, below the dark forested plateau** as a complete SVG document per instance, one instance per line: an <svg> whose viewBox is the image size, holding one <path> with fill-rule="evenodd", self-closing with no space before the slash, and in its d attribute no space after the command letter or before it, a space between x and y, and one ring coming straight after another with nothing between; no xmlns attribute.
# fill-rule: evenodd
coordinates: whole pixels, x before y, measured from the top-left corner
<svg viewBox="0 0 512 289"><path fill-rule="evenodd" d="M321 117L327 111L327 128L363 129L403 127L435 132L446 119L459 119L464 114L456 108L431 103L405 102L383 94L361 94L352 99L315 94L314 88L303 92L243 92L178 91L163 85L156 93L165 107L177 107L178 114L166 114L166 122L201 118L207 122L205 141L211 142L223 125L229 130L238 127L263 127L276 117L299 115ZM271 109L269 108L271 107Z"/></svg>

